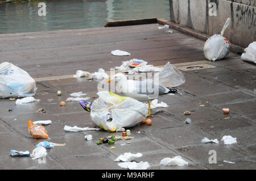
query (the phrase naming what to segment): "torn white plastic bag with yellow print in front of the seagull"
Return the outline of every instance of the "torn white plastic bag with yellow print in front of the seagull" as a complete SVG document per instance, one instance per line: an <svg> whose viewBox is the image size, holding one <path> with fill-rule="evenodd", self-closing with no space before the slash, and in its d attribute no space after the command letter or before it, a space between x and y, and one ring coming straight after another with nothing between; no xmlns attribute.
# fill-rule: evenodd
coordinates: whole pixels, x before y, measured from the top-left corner
<svg viewBox="0 0 256 181"><path fill-rule="evenodd" d="M118 128L133 127L141 123L148 114L148 106L138 100L119 96L108 91L97 93L90 117L94 124L106 131L114 132Z"/></svg>

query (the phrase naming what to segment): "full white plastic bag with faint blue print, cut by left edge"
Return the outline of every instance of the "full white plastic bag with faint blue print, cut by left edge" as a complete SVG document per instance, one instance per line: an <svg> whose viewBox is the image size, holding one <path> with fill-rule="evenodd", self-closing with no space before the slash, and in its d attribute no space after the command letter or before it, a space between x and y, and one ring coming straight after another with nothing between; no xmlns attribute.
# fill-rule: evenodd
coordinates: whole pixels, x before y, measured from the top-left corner
<svg viewBox="0 0 256 181"><path fill-rule="evenodd" d="M35 80L17 66L0 64L0 98L22 98L35 95Z"/></svg>

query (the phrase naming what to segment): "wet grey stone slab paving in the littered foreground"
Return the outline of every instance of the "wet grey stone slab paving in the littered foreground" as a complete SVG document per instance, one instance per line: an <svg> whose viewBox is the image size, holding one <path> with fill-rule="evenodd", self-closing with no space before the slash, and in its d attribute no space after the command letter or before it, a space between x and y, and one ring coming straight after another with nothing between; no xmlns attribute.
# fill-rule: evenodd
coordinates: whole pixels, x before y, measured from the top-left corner
<svg viewBox="0 0 256 181"><path fill-rule="evenodd" d="M90 113L78 102L67 102L64 107L59 103L72 92L79 91L87 93L90 102L97 99L95 81L88 81L86 77L38 81L34 98L40 102L22 106L9 99L1 99L0 169L121 169L114 159L129 151L142 153L143 156L136 161L147 161L150 169L255 169L256 66L241 61L238 54L231 55L216 62L199 60L202 64L212 65L211 68L181 70L186 82L177 87L180 94L158 98L169 107L162 108L164 112L152 117L152 125L138 124L130 128L134 137L129 140L131 144L121 145L127 140L116 141L113 150L110 149L113 145L97 145L96 142L101 137L121 136L122 132L65 132L63 129L64 125L94 127ZM175 65L181 69L181 66L193 64L195 62ZM58 90L62 91L61 96L57 96ZM39 108L46 113L36 112ZM230 113L222 113L222 108L230 108ZM184 111L192 112L184 115ZM191 118L191 124L184 123L187 117ZM28 120L52 120L52 124L45 126L51 138L48 141L66 144L47 150L46 163L38 163L30 157L10 157L11 149L32 151L43 141L30 136ZM137 133L139 130L141 133ZM92 134L93 140L86 141L86 134ZM225 135L236 137L237 144L224 145L220 140ZM204 137L218 138L220 143L203 144L201 139ZM209 150L216 150L217 163L209 163ZM188 166L159 165L163 158L176 155L188 161Z"/></svg>

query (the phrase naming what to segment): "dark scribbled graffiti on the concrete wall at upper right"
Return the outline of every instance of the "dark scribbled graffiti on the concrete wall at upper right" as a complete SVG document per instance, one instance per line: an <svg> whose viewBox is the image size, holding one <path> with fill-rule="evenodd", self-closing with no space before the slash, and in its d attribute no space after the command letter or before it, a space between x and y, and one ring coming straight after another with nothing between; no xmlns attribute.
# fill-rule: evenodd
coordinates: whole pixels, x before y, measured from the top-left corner
<svg viewBox="0 0 256 181"><path fill-rule="evenodd" d="M250 6L238 5L236 9L236 24L254 28L256 23L256 10Z"/></svg>

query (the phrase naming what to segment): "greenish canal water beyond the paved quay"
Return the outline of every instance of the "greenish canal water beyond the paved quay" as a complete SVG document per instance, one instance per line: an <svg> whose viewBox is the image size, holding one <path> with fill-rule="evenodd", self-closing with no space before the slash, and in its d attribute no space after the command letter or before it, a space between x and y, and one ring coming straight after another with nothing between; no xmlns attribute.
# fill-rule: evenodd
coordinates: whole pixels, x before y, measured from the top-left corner
<svg viewBox="0 0 256 181"><path fill-rule="evenodd" d="M46 3L39 16L38 3ZM104 27L108 21L170 19L169 0L39 0L0 4L0 33Z"/></svg>

